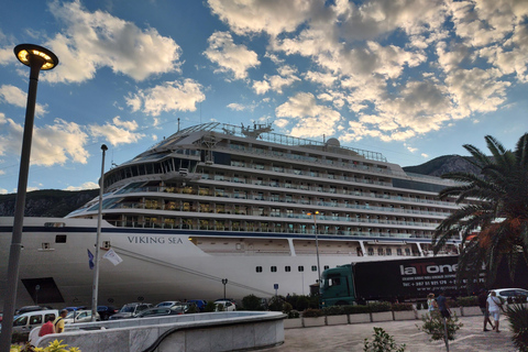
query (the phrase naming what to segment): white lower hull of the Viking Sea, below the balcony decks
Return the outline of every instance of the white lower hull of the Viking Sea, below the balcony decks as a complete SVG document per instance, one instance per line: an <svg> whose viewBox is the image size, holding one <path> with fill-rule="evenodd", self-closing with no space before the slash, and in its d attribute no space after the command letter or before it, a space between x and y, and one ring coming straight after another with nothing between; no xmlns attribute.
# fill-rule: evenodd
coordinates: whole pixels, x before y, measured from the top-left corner
<svg viewBox="0 0 528 352"><path fill-rule="evenodd" d="M51 223L64 227L45 227ZM0 305L3 305L6 295L11 227L12 218L0 218ZM87 250L95 252L96 229L96 220L25 218L16 306L89 306L94 272L88 265ZM267 253L241 251L211 255L189 241L189 238L196 238L193 231L119 229L105 223L101 232L101 243L109 241L123 262L114 266L101 260L100 305L217 299L223 297L222 278L228 278L227 296L235 299L250 294L271 297L275 294L275 284L278 284L279 295L307 295L309 285L317 280L317 271L312 271L317 265L316 255L274 254L273 250ZM55 243L57 234L66 235L66 243ZM266 234L265 239L274 241L273 235ZM219 242L224 240L218 238ZM244 240L248 241L248 238L244 239L243 234L238 239L239 242ZM319 245L324 248L326 241L320 241ZM358 256L343 251L333 255L321 254L320 262L321 267L334 267L351 262L395 257ZM258 266L263 268L260 273L256 272ZM275 266L276 272L272 272L271 266ZM286 267L290 271L286 272ZM299 267L304 271L299 272ZM47 287L50 282L56 285L56 289ZM40 285L40 290L35 290L36 285Z"/></svg>

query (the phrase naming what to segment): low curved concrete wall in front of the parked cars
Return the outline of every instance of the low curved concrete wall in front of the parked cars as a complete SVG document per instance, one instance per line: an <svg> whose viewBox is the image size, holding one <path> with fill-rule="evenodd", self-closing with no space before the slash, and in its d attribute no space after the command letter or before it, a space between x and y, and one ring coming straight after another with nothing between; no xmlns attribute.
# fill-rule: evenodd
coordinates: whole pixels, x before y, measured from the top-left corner
<svg viewBox="0 0 528 352"><path fill-rule="evenodd" d="M61 334L38 339L37 346L59 339L90 352L257 350L284 343L285 317L272 311L224 311L76 323Z"/></svg>

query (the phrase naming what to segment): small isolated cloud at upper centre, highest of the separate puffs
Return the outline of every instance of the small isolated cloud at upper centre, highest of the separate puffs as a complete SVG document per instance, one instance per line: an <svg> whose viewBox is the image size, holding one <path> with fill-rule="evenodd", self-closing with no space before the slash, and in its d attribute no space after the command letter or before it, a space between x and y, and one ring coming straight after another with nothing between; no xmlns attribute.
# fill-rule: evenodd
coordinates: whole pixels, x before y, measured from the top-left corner
<svg viewBox="0 0 528 352"><path fill-rule="evenodd" d="M231 72L235 79L244 79L248 77L248 69L261 64L255 52L248 50L245 45L234 44L228 32L215 32L208 42L209 47L204 55L220 66L215 72Z"/></svg>

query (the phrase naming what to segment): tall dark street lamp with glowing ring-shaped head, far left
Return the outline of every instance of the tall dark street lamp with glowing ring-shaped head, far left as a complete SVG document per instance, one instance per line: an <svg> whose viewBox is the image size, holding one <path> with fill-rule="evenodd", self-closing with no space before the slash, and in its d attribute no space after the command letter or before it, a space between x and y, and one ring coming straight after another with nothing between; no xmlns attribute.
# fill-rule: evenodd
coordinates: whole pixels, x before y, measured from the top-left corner
<svg viewBox="0 0 528 352"><path fill-rule="evenodd" d="M9 352L11 332L13 330L14 306L16 304L16 285L19 280L20 252L22 250L22 228L24 224L25 195L30 173L31 140L35 120L36 88L41 69L52 69L58 65L55 54L45 47L33 44L20 44L14 47L14 55L24 65L30 66L30 87L25 108L24 134L20 156L19 186L14 206L13 234L9 250L8 280L6 300L3 301L2 334L0 336L0 352Z"/></svg>

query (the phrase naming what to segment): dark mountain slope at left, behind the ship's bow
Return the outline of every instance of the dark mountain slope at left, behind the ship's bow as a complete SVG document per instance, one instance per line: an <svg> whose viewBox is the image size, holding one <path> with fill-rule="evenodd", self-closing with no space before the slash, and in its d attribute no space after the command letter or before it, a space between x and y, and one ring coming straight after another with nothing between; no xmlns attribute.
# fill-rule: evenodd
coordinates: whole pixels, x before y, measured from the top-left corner
<svg viewBox="0 0 528 352"><path fill-rule="evenodd" d="M63 218L80 208L99 195L99 189L58 190L43 189L28 193L25 198L26 217ZM16 195L0 195L0 217L13 217Z"/></svg>

